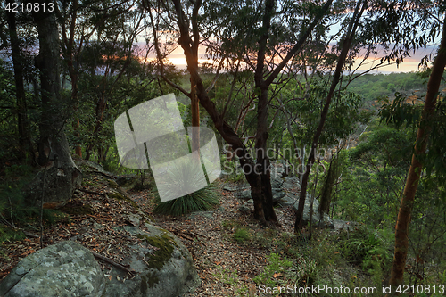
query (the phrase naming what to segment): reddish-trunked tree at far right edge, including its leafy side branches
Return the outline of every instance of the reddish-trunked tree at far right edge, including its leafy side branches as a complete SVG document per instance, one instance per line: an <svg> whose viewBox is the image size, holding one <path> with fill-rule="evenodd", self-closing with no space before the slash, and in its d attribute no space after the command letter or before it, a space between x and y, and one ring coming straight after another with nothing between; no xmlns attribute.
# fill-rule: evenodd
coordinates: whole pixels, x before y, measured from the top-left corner
<svg viewBox="0 0 446 297"><path fill-rule="evenodd" d="M445 13L444 4L440 6L436 13L439 16ZM401 105L401 102L398 101L389 104L382 111L384 119L395 121L399 125L403 121L417 124L417 140L406 179L406 186L404 186L401 197L400 210L395 227L395 251L390 278L392 294L401 293L398 289L401 289L404 281L403 276L409 251L409 222L422 169L426 167L429 175L433 169L436 169L436 174L438 177L441 177L438 180L442 182L444 182L444 177L446 176L443 143L445 137L443 124L444 107L442 106L442 97L439 95L439 87L442 82L444 68L446 67L445 20L442 20L442 41L427 82L427 93L425 95L424 108L421 112L421 119L419 113L410 113L401 109L401 107L405 108L406 106L403 106L404 104ZM436 120L441 120L441 122L435 122ZM428 147L429 153L427 152Z"/></svg>

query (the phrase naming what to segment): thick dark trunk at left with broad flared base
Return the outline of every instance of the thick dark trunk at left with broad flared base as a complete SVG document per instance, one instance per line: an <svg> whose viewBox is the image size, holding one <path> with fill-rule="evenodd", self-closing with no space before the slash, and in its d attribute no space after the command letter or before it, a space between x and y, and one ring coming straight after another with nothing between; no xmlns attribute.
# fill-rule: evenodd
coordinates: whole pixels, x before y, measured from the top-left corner
<svg viewBox="0 0 446 297"><path fill-rule="evenodd" d="M42 177L45 173L45 202L68 201L80 182L80 171L70 155L63 132L63 103L60 95L59 32L54 12L33 12L37 24L40 72L41 120L38 144L38 164L41 171L30 183L27 196L32 202L42 199Z"/></svg>

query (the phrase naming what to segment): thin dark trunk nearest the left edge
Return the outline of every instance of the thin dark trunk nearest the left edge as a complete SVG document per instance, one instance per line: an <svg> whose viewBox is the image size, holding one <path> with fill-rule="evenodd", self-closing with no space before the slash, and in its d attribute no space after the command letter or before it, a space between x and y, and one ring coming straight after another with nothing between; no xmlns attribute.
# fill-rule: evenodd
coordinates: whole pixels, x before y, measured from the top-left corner
<svg viewBox="0 0 446 297"><path fill-rule="evenodd" d="M12 5L12 1L8 0L8 4ZM25 87L23 86L23 67L21 56L21 44L17 36L17 27L15 23L15 12L6 12L6 18L9 27L9 36L11 38L11 54L14 66L15 95L17 97L17 128L19 132L19 145L21 157L26 158L26 153L32 162L35 162L36 156L29 138L28 129L28 112L25 97Z"/></svg>

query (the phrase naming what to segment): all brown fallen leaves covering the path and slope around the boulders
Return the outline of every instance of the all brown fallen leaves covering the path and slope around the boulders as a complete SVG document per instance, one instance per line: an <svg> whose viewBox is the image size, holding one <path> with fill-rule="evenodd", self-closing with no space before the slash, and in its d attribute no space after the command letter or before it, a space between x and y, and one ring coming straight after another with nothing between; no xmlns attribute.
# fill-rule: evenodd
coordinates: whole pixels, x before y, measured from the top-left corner
<svg viewBox="0 0 446 297"><path fill-rule="evenodd" d="M126 258L129 244L145 246L147 243L128 236L127 232L122 230L123 226L134 226L133 222L129 221L128 214L135 212L135 208L129 202L109 197L106 194L109 192L108 188L101 184L101 179L97 179L95 184L97 185L88 186L85 191L76 193L76 197L72 200L73 206L92 211L88 213L73 211L75 213L70 215L69 220L54 226L45 225L44 243L49 245L62 240L75 240L91 251L121 263L122 259ZM236 221L252 229L260 227L252 218L252 213L238 211L239 200L235 198L234 193L223 191L222 195L224 198L221 199L220 209L224 211L214 210L212 218L202 215L195 215L194 218L189 216L175 218L153 214L153 195L149 191L131 194L132 200L139 206L140 213L145 213L147 217L154 219L156 225L177 235L191 252L202 285L185 297L236 295L234 285L227 285L214 276L218 271L217 267L236 272L240 284L248 288L249 293L253 295L256 292L256 285L252 278L260 274L267 264L268 249L260 246L241 246L234 243L231 236L227 236L234 233L235 229L222 227L224 221ZM289 214L286 213L285 219L289 217L291 221L285 221L284 229L293 230L292 216L291 210ZM140 226L144 227L144 220ZM29 231L36 234L38 233L36 230L38 227ZM0 249L1 280L19 260L40 249L39 238L29 237L19 242L5 243ZM106 273L109 267L102 261L100 263L105 270L105 276L111 280L112 276ZM275 274L273 277L279 278L282 275Z"/></svg>

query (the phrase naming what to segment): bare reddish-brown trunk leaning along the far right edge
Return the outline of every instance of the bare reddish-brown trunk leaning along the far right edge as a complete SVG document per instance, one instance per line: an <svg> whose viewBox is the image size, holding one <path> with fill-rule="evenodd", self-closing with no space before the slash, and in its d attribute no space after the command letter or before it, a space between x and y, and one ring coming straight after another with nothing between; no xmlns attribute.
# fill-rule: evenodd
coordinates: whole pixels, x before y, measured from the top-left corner
<svg viewBox="0 0 446 297"><path fill-rule="evenodd" d="M446 20L446 19L445 19ZM412 211L412 204L415 200L418 181L423 164L418 160L417 156L425 154L427 140L431 127L426 120L434 114L435 105L437 103L437 95L442 82L444 67L446 66L446 26L443 23L442 44L435 58L429 82L427 83L427 93L425 95L425 107L422 113L421 124L417 132L417 143L415 153L412 155L412 163L410 164L406 186L402 194L400 211L395 227L395 252L393 255L393 264L391 270L391 278L389 284L392 285L392 293L398 285L403 284L404 269L406 268L406 260L409 249L409 221Z"/></svg>

